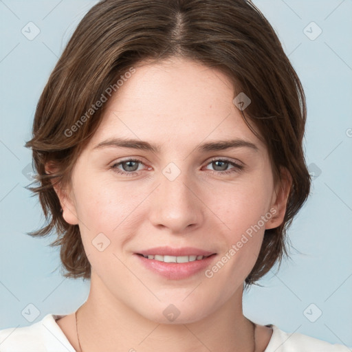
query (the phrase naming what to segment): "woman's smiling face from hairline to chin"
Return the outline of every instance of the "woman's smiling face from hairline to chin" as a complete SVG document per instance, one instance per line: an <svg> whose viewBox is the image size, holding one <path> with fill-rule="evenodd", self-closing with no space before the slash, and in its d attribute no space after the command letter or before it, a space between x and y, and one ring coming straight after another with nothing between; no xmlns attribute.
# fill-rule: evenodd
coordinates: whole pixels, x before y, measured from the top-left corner
<svg viewBox="0 0 352 352"><path fill-rule="evenodd" d="M194 322L242 289L285 197L233 98L224 74L174 58L135 66L109 100L61 197L105 298L155 322Z"/></svg>

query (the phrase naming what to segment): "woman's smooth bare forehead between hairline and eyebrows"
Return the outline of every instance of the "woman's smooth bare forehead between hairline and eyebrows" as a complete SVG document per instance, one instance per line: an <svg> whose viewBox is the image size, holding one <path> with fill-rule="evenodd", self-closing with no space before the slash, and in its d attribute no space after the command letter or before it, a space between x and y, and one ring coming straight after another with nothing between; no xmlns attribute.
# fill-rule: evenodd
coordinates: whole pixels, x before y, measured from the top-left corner
<svg viewBox="0 0 352 352"><path fill-rule="evenodd" d="M107 102L94 143L118 135L161 143L241 138L260 144L221 72L188 60L135 69Z"/></svg>

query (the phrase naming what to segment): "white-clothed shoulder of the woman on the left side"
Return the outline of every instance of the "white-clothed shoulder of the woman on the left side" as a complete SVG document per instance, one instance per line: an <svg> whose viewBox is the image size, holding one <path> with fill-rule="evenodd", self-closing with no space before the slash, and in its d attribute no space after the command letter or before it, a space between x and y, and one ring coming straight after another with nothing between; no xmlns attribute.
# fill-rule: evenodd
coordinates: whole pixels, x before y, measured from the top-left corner
<svg viewBox="0 0 352 352"><path fill-rule="evenodd" d="M1 352L75 352L55 319L47 314L41 321L28 327L10 327L0 330Z"/></svg>

